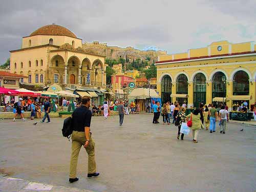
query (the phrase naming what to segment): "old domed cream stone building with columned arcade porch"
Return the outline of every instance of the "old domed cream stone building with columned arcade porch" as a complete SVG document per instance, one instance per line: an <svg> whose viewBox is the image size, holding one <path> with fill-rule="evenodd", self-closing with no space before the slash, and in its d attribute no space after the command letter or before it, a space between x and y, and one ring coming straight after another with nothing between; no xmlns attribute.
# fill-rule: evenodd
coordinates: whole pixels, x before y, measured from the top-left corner
<svg viewBox="0 0 256 192"><path fill-rule="evenodd" d="M41 27L23 37L22 48L10 51L10 71L41 86L105 87L104 56L81 47L82 39L67 28Z"/></svg>

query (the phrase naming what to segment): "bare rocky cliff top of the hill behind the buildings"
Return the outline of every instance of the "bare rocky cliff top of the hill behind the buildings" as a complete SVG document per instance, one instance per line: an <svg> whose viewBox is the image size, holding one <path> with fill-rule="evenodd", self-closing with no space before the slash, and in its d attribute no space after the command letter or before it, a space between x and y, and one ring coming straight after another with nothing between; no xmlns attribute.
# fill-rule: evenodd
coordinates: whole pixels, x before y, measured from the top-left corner
<svg viewBox="0 0 256 192"><path fill-rule="evenodd" d="M99 41L93 42L84 42L82 44L83 49L93 49L95 52L105 55L106 58L118 59L120 56L122 58L129 58L130 60L141 58L142 60L147 59L148 57L151 60L157 61L157 56L166 55L167 51L141 51L139 49L135 49L133 47L116 47L116 46L108 46L106 43L100 43Z"/></svg>

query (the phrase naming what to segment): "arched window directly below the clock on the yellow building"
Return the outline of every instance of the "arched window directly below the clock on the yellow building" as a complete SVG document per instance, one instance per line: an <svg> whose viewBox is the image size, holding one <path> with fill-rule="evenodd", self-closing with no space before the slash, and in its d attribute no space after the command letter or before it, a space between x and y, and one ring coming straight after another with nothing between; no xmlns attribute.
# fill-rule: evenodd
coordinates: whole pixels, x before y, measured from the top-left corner
<svg viewBox="0 0 256 192"><path fill-rule="evenodd" d="M222 81L222 78L226 79L226 76L222 72L217 72L212 77L212 99L215 97L226 97L226 83Z"/></svg>

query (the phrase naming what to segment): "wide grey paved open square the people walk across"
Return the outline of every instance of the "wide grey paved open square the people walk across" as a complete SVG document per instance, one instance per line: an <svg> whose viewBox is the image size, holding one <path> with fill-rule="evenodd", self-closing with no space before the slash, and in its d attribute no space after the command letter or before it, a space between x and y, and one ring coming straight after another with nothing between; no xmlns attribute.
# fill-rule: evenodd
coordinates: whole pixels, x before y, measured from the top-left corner
<svg viewBox="0 0 256 192"><path fill-rule="evenodd" d="M255 191L255 127L228 124L225 135L199 133L177 140L177 127L152 124L151 115L93 117L100 177L87 179L81 148L79 181L69 184L71 142L61 118L50 124L0 122L0 169L11 177L95 191ZM239 130L244 128L243 132ZM217 129L219 130L219 129Z"/></svg>

